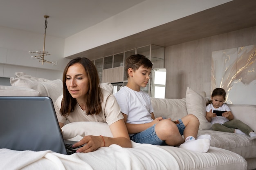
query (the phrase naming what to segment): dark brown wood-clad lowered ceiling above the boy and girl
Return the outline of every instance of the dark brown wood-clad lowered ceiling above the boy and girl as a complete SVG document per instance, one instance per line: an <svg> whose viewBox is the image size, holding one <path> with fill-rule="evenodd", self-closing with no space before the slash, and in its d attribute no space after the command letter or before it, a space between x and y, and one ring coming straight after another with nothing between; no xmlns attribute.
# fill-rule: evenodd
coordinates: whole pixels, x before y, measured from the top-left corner
<svg viewBox="0 0 256 170"><path fill-rule="evenodd" d="M256 26L256 0L233 0L68 58L92 60L148 44L171 46L252 26Z"/></svg>

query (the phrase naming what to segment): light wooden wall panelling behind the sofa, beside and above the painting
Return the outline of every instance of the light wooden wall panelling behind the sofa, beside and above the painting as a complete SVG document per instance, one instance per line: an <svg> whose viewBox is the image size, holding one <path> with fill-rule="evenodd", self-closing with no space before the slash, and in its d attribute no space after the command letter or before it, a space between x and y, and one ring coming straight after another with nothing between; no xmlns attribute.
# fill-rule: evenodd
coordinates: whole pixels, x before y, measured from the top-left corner
<svg viewBox="0 0 256 170"><path fill-rule="evenodd" d="M165 48L166 98L181 99L189 86L200 93L211 91L212 51L256 42L256 26Z"/></svg>

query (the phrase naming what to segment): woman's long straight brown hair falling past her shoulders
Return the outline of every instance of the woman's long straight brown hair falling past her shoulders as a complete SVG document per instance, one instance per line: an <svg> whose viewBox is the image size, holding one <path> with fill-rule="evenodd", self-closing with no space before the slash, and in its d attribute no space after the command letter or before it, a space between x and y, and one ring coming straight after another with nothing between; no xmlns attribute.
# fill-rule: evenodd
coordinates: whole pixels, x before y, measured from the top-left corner
<svg viewBox="0 0 256 170"><path fill-rule="evenodd" d="M70 113L72 113L76 107L76 99L74 99L70 93L67 90L66 86L66 75L67 75L67 70L70 66L73 64L80 63L83 68L85 68L85 72L87 73L88 76L88 81L89 81L89 91L88 91L88 97L86 101L86 108L85 111L87 115L93 115L93 114L99 114L102 111L101 107L101 101L103 99L103 94L101 91L101 88L99 86L100 84L100 79L99 75L97 72L97 68L95 65L92 63L91 60L88 58L81 58L77 57L73 60L71 60L67 66L64 69L63 72L63 98L61 101L61 109L60 113L63 116L68 116Z"/></svg>

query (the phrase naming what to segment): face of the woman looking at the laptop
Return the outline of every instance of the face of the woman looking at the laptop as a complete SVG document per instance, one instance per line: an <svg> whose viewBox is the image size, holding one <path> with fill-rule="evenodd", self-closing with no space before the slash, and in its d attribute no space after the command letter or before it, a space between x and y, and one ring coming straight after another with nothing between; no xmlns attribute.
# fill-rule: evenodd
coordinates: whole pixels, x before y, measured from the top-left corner
<svg viewBox="0 0 256 170"><path fill-rule="evenodd" d="M85 101L89 91L89 80L82 64L76 63L67 69L66 86L73 98Z"/></svg>

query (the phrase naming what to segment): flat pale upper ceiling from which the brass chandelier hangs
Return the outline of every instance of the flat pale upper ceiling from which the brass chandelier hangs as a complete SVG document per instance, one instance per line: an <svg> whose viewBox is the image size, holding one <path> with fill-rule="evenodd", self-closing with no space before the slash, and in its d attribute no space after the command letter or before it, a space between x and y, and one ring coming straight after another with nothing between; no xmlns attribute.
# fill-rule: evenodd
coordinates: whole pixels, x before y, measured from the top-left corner
<svg viewBox="0 0 256 170"><path fill-rule="evenodd" d="M144 0L1 0L0 26L67 38Z"/></svg>

